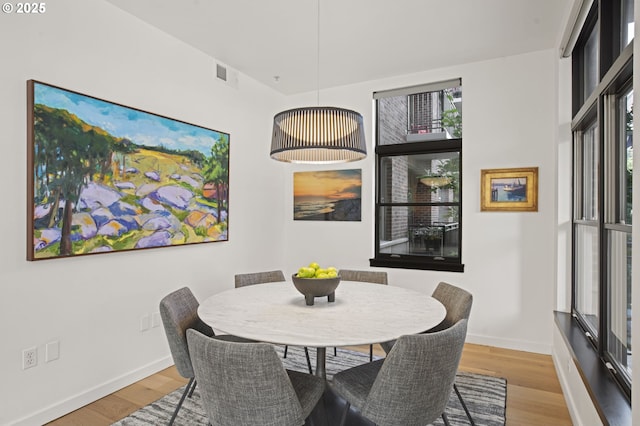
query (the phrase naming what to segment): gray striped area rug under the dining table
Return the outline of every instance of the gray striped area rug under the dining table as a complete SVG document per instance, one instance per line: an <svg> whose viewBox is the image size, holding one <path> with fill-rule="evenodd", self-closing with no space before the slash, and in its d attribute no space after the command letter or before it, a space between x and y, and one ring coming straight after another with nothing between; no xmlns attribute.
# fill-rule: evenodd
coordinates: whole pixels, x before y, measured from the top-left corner
<svg viewBox="0 0 640 426"><path fill-rule="evenodd" d="M276 350L282 356L282 347ZM345 368L369 362L369 355L338 348L337 356L332 349L327 349L327 379ZM315 350L309 350L311 365L315 368ZM301 348L289 347L287 358L283 364L291 370L308 372L307 362ZM458 390L464 398L467 408L476 425L503 426L505 424L505 406L507 382L503 378L458 372L456 376ZM128 417L114 423L115 426L148 426L167 424L175 409L184 388L180 388L169 395L132 413ZM456 394L452 391L446 414L451 425L468 425L465 412ZM187 398L178 413L174 425L202 425L208 424L206 414L200 406L200 394L196 387L191 398ZM358 423L360 424L360 423ZM434 426L442 426L442 419L434 422Z"/></svg>

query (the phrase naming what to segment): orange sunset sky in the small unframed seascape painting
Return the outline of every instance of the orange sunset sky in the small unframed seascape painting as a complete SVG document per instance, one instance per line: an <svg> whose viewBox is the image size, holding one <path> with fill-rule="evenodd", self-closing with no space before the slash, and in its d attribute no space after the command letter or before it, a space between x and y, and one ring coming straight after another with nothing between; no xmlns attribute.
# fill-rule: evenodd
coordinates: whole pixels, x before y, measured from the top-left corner
<svg viewBox="0 0 640 426"><path fill-rule="evenodd" d="M360 198L362 170L330 170L293 174L293 197L304 200L346 200Z"/></svg>

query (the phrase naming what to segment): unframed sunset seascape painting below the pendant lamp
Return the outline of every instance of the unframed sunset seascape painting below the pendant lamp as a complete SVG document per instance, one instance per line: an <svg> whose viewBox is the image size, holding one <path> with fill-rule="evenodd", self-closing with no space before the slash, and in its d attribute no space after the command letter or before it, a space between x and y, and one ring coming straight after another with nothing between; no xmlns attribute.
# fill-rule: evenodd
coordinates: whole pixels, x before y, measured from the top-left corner
<svg viewBox="0 0 640 426"><path fill-rule="evenodd" d="M293 174L293 220L360 221L362 170Z"/></svg>

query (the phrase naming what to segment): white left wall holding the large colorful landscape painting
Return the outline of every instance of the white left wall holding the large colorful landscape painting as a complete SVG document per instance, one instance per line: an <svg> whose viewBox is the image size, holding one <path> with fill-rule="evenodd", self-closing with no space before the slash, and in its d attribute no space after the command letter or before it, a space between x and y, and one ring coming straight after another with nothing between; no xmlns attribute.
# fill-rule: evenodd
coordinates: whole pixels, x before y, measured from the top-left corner
<svg viewBox="0 0 640 426"><path fill-rule="evenodd" d="M284 174L268 156L283 100L242 74L237 89L216 80L213 59L101 0L2 14L0 40L0 424L41 424L171 363L162 327L138 331L166 293L204 298L283 263ZM27 262L28 79L230 132L230 241ZM60 359L45 363L51 340Z"/></svg>

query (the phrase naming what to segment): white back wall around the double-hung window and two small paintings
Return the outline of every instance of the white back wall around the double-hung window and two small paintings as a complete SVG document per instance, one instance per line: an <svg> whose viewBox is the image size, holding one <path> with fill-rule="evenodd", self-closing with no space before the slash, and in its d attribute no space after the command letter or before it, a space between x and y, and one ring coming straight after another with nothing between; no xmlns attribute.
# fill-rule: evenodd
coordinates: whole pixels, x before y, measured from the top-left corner
<svg viewBox="0 0 640 426"><path fill-rule="evenodd" d="M556 279L556 70L556 52L548 50L322 91L320 104L355 109L368 128L367 160L339 166L362 169L362 221L290 222L288 270L312 260L368 268L374 254L372 93L461 77L465 272L387 269L390 282L425 293L442 280L460 285L474 294L468 341L550 353ZM315 93L289 102L315 105ZM480 211L481 169L529 166L539 167L538 212ZM292 178L285 184L285 214L292 220Z"/></svg>

